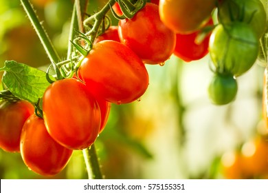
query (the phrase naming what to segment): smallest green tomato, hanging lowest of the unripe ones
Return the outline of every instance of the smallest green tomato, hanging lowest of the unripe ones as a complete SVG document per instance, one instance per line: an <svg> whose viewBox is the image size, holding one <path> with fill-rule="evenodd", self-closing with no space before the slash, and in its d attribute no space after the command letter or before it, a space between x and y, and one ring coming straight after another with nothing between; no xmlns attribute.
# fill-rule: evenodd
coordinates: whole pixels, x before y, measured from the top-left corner
<svg viewBox="0 0 268 193"><path fill-rule="evenodd" d="M208 96L212 103L225 105L236 97L238 85L232 74L216 73L208 86Z"/></svg>

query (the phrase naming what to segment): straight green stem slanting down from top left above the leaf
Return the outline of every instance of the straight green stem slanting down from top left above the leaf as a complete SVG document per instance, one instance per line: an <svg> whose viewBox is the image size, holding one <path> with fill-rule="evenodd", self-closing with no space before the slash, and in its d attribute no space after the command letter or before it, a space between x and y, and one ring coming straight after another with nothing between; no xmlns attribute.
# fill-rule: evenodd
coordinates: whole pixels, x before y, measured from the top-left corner
<svg viewBox="0 0 268 193"><path fill-rule="evenodd" d="M32 23L32 26L34 26L34 30L36 31L36 34L41 40L41 43L45 48L45 52L47 52L47 56L49 57L50 61L52 63L58 63L58 61L60 61L60 57L58 56L54 46L52 45L52 41L50 41L47 33L45 32L45 29L38 20L38 17L34 12L34 8L28 0L21 0L21 4Z"/></svg>

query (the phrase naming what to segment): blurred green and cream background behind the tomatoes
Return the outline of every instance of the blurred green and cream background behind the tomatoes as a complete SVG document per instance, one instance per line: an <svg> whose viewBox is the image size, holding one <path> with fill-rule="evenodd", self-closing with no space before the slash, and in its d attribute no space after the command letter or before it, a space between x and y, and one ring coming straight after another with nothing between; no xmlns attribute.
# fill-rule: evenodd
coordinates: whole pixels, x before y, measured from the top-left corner
<svg viewBox="0 0 268 193"><path fill-rule="evenodd" d="M88 13L96 12L105 2L90 0ZM32 0L32 3L64 59L74 2ZM113 20L113 25L116 24ZM0 0L0 66L5 60L36 68L49 64L19 0ZM243 144L260 134L267 134L262 121L264 67L256 62L249 72L238 78L234 103L216 106L207 94L213 75L210 63L209 56L191 63L172 56L164 66L146 65L150 85L141 101L112 105L107 127L96 141L106 179L248 177L236 166L232 167L235 158L232 152L244 150L247 154ZM268 160L266 150L260 157ZM252 164L258 165L258 159ZM229 169L228 165L231 165ZM268 162L263 170L267 171L250 178L267 178ZM28 170L20 154L0 150L0 178L46 177ZM74 152L65 170L52 179L87 179L82 152Z"/></svg>

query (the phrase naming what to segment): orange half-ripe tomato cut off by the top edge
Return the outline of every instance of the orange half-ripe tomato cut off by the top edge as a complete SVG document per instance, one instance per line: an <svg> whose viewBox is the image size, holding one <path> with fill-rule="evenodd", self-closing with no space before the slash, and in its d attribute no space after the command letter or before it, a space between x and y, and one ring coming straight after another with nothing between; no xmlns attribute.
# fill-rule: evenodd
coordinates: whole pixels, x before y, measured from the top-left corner
<svg viewBox="0 0 268 193"><path fill-rule="evenodd" d="M203 26L215 3L215 0L160 0L160 19L177 34L189 34Z"/></svg>

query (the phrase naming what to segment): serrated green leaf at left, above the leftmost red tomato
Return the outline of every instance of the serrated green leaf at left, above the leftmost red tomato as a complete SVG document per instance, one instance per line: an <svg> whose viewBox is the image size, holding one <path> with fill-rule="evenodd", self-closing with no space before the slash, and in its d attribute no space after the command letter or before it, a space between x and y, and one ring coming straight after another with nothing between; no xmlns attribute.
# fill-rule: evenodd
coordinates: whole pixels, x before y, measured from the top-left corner
<svg viewBox="0 0 268 193"><path fill-rule="evenodd" d="M36 103L49 86L46 73L16 61L5 61L2 83L19 99Z"/></svg>

